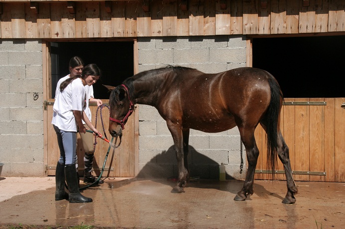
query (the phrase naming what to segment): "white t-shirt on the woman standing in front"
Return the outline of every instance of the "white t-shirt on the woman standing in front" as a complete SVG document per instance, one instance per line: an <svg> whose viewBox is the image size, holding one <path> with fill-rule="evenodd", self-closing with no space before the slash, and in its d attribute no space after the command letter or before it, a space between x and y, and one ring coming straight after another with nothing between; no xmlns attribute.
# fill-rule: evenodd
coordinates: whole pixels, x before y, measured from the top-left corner
<svg viewBox="0 0 345 229"><path fill-rule="evenodd" d="M74 79L67 87L57 94L53 106L51 124L63 131L77 131L73 110L83 111L85 107L85 87L81 78Z"/></svg>

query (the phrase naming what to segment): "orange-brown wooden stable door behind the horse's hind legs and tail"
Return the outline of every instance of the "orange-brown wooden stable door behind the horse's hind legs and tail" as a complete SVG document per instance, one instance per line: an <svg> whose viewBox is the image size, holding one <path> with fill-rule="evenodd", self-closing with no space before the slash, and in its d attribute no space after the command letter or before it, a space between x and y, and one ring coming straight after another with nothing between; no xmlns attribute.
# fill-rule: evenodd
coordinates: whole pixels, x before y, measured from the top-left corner
<svg viewBox="0 0 345 229"><path fill-rule="evenodd" d="M290 150L297 181L345 182L345 98L287 98L281 131ZM266 166L266 135L255 131L260 156L256 179L270 179ZM278 159L276 179L285 179Z"/></svg>

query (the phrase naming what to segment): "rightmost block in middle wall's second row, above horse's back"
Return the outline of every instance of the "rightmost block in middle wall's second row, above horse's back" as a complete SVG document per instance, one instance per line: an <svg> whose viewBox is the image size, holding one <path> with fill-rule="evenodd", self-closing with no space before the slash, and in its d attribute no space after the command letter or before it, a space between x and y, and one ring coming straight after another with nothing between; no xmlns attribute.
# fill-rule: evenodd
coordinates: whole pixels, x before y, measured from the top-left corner
<svg viewBox="0 0 345 229"><path fill-rule="evenodd" d="M217 48L209 50L210 63L245 63L246 49L244 48Z"/></svg>

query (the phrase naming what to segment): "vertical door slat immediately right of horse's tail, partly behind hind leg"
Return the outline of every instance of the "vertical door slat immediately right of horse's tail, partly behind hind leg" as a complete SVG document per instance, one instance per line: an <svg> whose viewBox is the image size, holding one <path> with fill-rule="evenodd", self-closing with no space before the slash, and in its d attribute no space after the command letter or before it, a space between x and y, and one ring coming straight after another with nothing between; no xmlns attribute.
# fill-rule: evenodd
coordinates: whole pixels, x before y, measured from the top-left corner
<svg viewBox="0 0 345 229"><path fill-rule="evenodd" d="M294 98L286 98L286 102L294 102ZM296 158L296 152L295 152L295 106L283 106L284 107L284 113L283 113L283 138L285 140L286 145L289 148L289 156L290 156L290 163L291 163L291 169L293 171L296 170L295 164L298 163ZM295 175L293 175L295 177Z"/></svg>

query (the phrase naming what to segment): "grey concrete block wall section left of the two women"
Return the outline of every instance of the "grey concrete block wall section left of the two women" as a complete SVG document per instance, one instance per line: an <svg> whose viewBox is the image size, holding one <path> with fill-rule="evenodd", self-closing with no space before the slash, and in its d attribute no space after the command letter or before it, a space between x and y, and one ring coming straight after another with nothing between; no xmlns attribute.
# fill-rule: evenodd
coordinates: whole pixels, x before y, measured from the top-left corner
<svg viewBox="0 0 345 229"><path fill-rule="evenodd" d="M42 43L0 39L1 176L43 176Z"/></svg>

